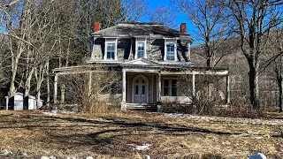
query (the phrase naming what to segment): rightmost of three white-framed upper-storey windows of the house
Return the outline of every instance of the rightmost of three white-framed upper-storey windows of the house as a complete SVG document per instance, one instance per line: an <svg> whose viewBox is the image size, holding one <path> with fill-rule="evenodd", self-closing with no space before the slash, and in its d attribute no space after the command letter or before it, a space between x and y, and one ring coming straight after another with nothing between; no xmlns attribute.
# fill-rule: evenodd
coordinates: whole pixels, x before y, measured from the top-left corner
<svg viewBox="0 0 283 159"><path fill-rule="evenodd" d="M177 42L165 41L164 61L177 61Z"/></svg>

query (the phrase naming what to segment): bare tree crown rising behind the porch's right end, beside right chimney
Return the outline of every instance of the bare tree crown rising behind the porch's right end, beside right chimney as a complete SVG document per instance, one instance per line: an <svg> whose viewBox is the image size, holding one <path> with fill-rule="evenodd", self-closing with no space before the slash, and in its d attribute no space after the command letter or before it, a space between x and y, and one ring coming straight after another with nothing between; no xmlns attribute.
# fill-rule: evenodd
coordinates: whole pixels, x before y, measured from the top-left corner
<svg viewBox="0 0 283 159"><path fill-rule="evenodd" d="M228 28L229 16L226 8L214 0L177 0L172 1L177 11L185 12L198 30L196 41L202 41L199 54L206 59L206 66L211 68L229 54L221 49L232 32Z"/></svg>

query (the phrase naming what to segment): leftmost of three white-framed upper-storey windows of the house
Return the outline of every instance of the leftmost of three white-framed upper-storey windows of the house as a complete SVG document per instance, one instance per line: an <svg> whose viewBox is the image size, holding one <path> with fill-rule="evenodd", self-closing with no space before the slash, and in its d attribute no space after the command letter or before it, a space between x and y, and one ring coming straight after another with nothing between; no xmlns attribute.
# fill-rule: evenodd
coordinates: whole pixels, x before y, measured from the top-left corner
<svg viewBox="0 0 283 159"><path fill-rule="evenodd" d="M104 60L117 60L117 40L105 40L105 55Z"/></svg>

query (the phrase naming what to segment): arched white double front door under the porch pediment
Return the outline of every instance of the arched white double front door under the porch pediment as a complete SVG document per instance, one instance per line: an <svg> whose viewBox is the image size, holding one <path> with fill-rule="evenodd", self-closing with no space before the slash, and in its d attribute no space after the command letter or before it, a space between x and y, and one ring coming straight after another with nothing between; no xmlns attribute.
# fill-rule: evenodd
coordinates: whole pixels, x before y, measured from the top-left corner
<svg viewBox="0 0 283 159"><path fill-rule="evenodd" d="M134 103L148 102L148 86L142 76L134 79Z"/></svg>

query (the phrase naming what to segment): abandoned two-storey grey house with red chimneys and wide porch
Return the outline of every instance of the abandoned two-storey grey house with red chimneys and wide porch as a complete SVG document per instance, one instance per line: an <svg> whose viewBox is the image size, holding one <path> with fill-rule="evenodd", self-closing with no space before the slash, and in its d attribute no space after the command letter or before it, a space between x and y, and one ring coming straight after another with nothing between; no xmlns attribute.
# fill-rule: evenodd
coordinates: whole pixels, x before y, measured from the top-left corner
<svg viewBox="0 0 283 159"><path fill-rule="evenodd" d="M116 96L123 110L146 108L162 102L189 104L203 87L219 79L226 81L222 82L225 83L222 91L225 94L221 95L229 102L228 70L194 66L190 58L193 39L187 34L185 23L180 25L180 31L160 23L141 22L100 28L96 22L88 65L53 70L55 103L65 102L65 95L60 95L61 100L57 98L61 76L88 73L89 79L85 83L89 84L96 78L94 68L102 64L120 74L121 88ZM65 90L60 92L64 94Z"/></svg>

